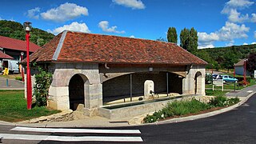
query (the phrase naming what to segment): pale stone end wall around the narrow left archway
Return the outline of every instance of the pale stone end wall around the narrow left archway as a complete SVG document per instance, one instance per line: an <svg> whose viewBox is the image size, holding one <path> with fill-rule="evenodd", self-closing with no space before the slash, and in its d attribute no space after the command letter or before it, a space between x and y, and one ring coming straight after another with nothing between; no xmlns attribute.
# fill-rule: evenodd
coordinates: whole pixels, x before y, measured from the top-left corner
<svg viewBox="0 0 256 144"><path fill-rule="evenodd" d="M50 107L57 110L70 109L69 82L74 74L79 74L85 81L85 111L88 115L97 114L98 106L102 106L102 84L98 64L56 63L49 68L53 73L49 92Z"/></svg>

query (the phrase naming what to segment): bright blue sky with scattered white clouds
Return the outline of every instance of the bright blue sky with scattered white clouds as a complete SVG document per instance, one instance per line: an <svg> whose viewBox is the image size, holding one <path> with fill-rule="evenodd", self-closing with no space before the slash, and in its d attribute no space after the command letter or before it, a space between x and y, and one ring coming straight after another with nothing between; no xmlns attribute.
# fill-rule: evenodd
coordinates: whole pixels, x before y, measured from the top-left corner
<svg viewBox="0 0 256 144"><path fill-rule="evenodd" d="M0 10L0 19L29 21L53 34L155 40L173 26L178 35L185 27L198 30L198 48L256 42L256 0L2 0Z"/></svg>

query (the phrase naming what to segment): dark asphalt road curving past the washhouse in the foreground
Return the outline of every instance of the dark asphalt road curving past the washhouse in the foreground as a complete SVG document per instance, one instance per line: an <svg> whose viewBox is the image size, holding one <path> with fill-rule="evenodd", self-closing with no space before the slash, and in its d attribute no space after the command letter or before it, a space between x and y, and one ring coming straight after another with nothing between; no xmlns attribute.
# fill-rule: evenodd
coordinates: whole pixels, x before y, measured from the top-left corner
<svg viewBox="0 0 256 144"><path fill-rule="evenodd" d="M14 126L0 126L0 134L34 134L32 132L9 131ZM102 128L101 128L102 129ZM107 129L107 128L105 128ZM141 137L143 142L104 142L104 143L255 143L256 142L256 94L242 106L224 114L202 118L190 122L163 125L115 127L109 129L140 130L141 134L126 136ZM61 136L121 136L121 134L63 134L44 133ZM63 143L57 141L17 141L5 140L3 143ZM66 142L74 143L74 142ZM102 143L102 142L77 142Z"/></svg>

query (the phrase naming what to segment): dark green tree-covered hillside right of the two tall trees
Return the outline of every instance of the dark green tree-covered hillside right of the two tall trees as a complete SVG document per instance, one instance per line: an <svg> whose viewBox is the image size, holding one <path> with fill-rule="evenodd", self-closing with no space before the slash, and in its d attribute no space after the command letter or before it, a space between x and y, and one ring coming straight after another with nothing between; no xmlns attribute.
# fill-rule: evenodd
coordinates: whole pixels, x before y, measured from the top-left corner
<svg viewBox="0 0 256 144"><path fill-rule="evenodd" d="M234 63L242 58L247 58L250 53L256 52L256 44L243 46L227 46L198 50L197 56L210 65L207 68L233 69Z"/></svg>

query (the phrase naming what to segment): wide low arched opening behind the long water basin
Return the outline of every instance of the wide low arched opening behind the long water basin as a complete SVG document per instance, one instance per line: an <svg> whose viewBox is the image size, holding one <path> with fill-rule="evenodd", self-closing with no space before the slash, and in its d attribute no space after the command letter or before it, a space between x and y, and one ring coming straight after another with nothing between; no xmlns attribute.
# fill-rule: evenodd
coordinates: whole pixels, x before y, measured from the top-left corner
<svg viewBox="0 0 256 144"><path fill-rule="evenodd" d="M167 75L166 71L138 72L133 74L124 74L103 82L103 103L124 98L143 96L144 83L146 80L154 82L154 92L156 94L166 94L167 92L169 94L182 94L182 77L178 74L168 72Z"/></svg>

